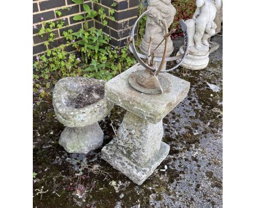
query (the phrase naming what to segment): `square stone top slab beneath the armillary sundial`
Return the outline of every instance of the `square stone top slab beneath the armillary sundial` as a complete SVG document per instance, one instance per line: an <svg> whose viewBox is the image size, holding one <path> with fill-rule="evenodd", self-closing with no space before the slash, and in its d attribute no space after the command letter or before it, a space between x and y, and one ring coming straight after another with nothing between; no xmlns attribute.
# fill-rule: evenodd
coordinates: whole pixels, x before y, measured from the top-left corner
<svg viewBox="0 0 256 208"><path fill-rule="evenodd" d="M178 105L188 94L190 83L184 79L161 73L170 82L164 94L145 94L133 89L128 78L133 71L144 68L136 64L105 84L105 97L149 123L156 124Z"/></svg>

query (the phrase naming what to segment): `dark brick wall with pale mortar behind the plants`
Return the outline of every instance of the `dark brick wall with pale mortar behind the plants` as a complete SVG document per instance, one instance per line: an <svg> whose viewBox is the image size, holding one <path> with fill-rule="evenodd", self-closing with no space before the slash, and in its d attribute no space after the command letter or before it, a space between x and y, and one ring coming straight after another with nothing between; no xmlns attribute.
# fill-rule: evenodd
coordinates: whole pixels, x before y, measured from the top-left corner
<svg viewBox="0 0 256 208"><path fill-rule="evenodd" d="M112 8L112 3L117 3L117 6L113 8L115 10L115 21L106 17L108 26L103 26L98 16L95 17L95 20L89 20L88 23L89 27L103 28L103 32L112 37L112 40L110 40L111 45L123 47L127 36L130 35L131 27L137 19L138 0L98 0L98 3L86 0L84 2L96 11L103 7L107 16L109 16L109 9ZM62 15L57 17L55 10L60 10ZM65 43L65 39L62 36L64 30L71 28L73 32L77 32L82 28L83 20L73 20L73 16L78 14L84 14L83 5L77 5L71 0L33 0L33 58L38 54L44 53L48 48L57 47ZM41 37L38 35L40 28L44 27L42 21L51 22L56 21L56 19L62 19L65 25L61 29L54 29L54 42L45 46L44 43L48 36ZM68 51L73 52L75 48L69 47Z"/></svg>

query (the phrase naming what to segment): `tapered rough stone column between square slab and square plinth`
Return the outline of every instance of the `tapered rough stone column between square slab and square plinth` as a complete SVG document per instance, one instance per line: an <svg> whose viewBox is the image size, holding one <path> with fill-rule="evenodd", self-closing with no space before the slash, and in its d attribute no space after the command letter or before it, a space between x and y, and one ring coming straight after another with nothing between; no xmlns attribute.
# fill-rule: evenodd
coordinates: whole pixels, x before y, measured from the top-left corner
<svg viewBox="0 0 256 208"><path fill-rule="evenodd" d="M138 166L144 166L160 149L164 130L156 124L127 112L118 130L117 148Z"/></svg>

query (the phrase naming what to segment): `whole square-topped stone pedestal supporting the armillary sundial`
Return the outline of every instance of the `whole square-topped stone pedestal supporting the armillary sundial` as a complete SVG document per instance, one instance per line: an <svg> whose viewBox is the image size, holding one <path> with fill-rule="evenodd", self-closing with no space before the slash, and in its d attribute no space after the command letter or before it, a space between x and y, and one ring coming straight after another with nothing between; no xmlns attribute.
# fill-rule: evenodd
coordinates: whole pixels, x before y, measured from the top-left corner
<svg viewBox="0 0 256 208"><path fill-rule="evenodd" d="M190 83L164 73L170 82L168 91L143 94L128 82L136 70L143 68L136 64L105 85L106 99L125 108L127 113L117 137L101 152L103 160L141 185L168 155L170 146L161 142L162 119L187 96Z"/></svg>

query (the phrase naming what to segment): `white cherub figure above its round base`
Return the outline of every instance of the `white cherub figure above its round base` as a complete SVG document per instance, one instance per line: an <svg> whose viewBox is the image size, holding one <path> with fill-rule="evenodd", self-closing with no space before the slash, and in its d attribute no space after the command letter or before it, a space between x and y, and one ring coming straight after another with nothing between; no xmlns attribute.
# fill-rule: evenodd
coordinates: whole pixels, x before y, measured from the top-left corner
<svg viewBox="0 0 256 208"><path fill-rule="evenodd" d="M196 6L197 9L193 16L195 20L195 48L205 50L209 47L208 39L216 34L217 25L214 19L217 9L222 7L222 0L196 0Z"/></svg>

